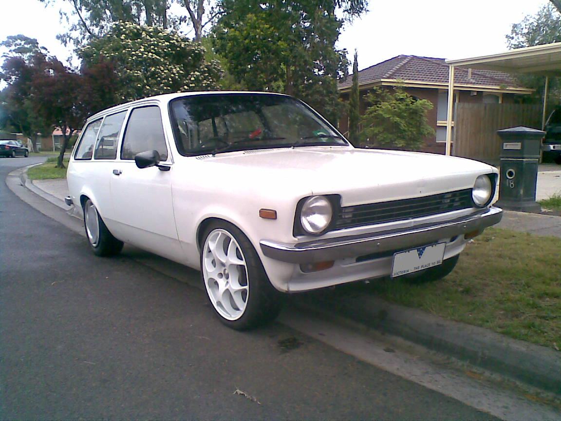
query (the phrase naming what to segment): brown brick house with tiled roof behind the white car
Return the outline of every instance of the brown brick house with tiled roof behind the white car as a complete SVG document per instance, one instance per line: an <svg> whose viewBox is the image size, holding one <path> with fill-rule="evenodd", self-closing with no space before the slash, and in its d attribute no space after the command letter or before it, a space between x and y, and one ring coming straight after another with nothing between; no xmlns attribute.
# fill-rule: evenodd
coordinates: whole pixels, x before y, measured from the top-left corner
<svg viewBox="0 0 561 421"><path fill-rule="evenodd" d="M397 56L358 71L360 90L360 112L365 112L364 97L371 88L401 86L415 98L427 99L433 109L427 113L429 125L436 135L425 139L422 152L445 153L446 117L448 108L449 66L443 58ZM341 99L348 102L352 86L352 75L339 81ZM454 100L469 103L514 103L519 95L527 95L531 89L520 86L516 79L506 73L491 70L458 68L454 76ZM348 116L339 121L339 130L348 132Z"/></svg>

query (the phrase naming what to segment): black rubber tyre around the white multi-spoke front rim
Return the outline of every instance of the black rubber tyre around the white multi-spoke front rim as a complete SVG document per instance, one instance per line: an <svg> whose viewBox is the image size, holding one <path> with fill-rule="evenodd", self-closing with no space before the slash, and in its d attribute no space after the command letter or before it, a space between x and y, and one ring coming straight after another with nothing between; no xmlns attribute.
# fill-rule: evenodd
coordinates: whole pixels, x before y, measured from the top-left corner
<svg viewBox="0 0 561 421"><path fill-rule="evenodd" d="M210 287L205 280L203 257L205 255L206 240L209 235L213 232L217 232L217 230L226 231L227 234L236 240L239 248L241 249L241 256L245 261L247 277L243 281L247 284L246 306L245 309L243 309L242 315L234 320L229 320L220 314L217 309L217 305L215 305L213 299L211 299L211 292L209 290ZM204 231L200 250L201 279L205 285L210 305L220 322L229 328L243 331L262 326L277 317L284 301L283 294L271 285L259 255L256 253L251 242L239 228L226 221L210 223ZM211 282L211 278L209 279L209 282Z"/></svg>

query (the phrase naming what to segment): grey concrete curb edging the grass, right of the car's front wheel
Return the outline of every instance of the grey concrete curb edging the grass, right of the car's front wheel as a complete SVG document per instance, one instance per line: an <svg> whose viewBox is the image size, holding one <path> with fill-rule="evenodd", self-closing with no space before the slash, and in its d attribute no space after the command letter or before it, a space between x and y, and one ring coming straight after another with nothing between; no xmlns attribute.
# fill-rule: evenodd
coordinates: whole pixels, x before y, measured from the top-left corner
<svg viewBox="0 0 561 421"><path fill-rule="evenodd" d="M367 292L348 297L307 294L302 309L350 319L366 328L404 338L438 353L561 395L561 352L519 341L485 328L443 319L422 310L390 304Z"/></svg>

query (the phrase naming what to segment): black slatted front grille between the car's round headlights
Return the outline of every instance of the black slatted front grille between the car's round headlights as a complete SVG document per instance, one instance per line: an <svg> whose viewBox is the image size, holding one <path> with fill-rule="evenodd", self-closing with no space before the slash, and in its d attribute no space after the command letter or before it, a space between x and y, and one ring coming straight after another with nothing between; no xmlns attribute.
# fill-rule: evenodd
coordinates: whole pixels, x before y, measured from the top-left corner
<svg viewBox="0 0 561 421"><path fill-rule="evenodd" d="M403 221L473 207L471 189L450 191L422 198L347 206L339 209L334 229Z"/></svg>

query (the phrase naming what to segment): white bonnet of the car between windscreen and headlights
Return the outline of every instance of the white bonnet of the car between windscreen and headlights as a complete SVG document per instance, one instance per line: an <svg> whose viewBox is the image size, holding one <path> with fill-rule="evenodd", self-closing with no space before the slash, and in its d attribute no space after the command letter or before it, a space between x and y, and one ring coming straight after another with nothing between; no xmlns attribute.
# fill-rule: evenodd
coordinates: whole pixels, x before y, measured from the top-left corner
<svg viewBox="0 0 561 421"><path fill-rule="evenodd" d="M465 158L347 147L249 150L204 159L225 171L236 166L236 173L245 171L253 182L260 181L255 177L259 174L269 185L306 187L313 195L341 194L344 206L470 189L478 175L497 172Z"/></svg>

